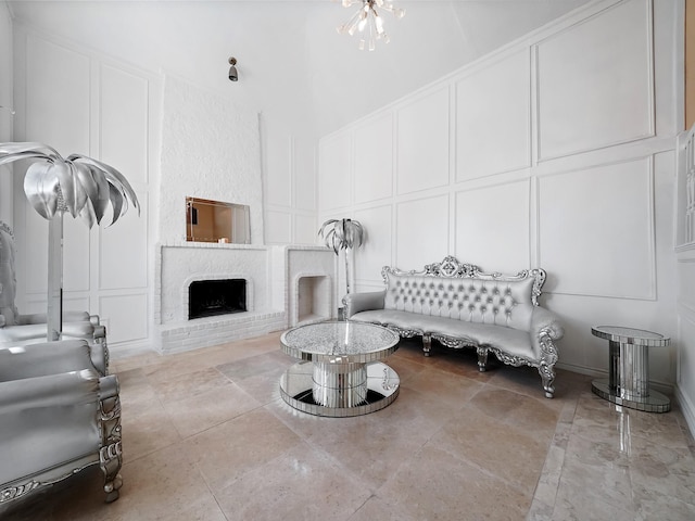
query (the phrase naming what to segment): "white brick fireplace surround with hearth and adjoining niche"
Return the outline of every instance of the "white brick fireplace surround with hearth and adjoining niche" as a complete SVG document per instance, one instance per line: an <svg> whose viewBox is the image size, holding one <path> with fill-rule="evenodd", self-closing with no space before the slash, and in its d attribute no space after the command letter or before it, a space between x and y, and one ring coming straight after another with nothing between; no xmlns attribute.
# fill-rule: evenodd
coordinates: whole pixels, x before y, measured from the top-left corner
<svg viewBox="0 0 695 521"><path fill-rule="evenodd" d="M258 336L295 326L303 301L317 290L298 281L323 278L317 312L311 319L334 318L337 264L333 252L319 246L266 246L176 242L157 244L154 320L157 351L175 353ZM192 280L244 279L247 312L188 319Z"/></svg>

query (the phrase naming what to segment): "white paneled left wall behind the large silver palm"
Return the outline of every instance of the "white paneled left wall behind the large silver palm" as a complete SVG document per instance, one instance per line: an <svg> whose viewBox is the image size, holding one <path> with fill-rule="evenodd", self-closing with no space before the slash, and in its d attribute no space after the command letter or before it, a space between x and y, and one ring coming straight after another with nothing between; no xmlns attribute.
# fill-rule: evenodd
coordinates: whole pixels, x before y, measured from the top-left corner
<svg viewBox="0 0 695 521"><path fill-rule="evenodd" d="M130 207L113 227L106 226L111 214L91 230L79 219L64 218L65 308L100 315L116 352L119 344L143 343L151 323L150 183L157 81L18 24L14 47L14 140L43 142L63 156L80 153L114 166L141 204L139 215ZM26 203L23 176L15 168L17 304L23 313L45 312L48 223Z"/></svg>

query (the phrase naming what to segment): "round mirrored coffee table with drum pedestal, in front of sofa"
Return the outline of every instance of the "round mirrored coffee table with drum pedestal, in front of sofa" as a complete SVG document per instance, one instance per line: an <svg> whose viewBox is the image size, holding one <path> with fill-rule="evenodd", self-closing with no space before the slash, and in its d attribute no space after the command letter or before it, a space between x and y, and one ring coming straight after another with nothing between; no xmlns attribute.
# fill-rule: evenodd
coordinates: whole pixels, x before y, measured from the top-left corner
<svg viewBox="0 0 695 521"><path fill-rule="evenodd" d="M349 417L382 409L399 395L399 374L379 360L399 348L399 335L381 326L327 321L282 333L282 351L302 361L280 378L290 406L316 416Z"/></svg>

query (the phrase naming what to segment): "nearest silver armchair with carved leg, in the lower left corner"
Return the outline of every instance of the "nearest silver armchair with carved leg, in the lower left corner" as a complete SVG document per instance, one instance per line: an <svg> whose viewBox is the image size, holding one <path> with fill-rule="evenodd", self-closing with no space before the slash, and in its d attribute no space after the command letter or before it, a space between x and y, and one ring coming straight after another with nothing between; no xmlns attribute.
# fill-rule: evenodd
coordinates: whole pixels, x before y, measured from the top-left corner
<svg viewBox="0 0 695 521"><path fill-rule="evenodd" d="M0 347L0 505L99 465L122 485L121 402L84 340Z"/></svg>

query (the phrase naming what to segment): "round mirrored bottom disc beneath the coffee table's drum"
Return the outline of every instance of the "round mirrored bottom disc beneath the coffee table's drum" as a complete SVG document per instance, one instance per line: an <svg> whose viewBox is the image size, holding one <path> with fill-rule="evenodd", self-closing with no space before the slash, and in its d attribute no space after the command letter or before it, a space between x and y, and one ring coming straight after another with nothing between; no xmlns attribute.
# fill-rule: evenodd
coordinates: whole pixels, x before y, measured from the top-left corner
<svg viewBox="0 0 695 521"><path fill-rule="evenodd" d="M401 379L399 374L386 364L375 361L366 365L367 393L363 402L349 407L331 407L320 405L314 399L315 395L325 396L327 389L320 387L314 379L314 364L300 361L290 367L280 378L280 395L282 399L298 410L315 416L332 418L346 418L351 416L368 415L391 405L399 395ZM330 390L339 397L350 390ZM331 399L330 403L344 403L341 399Z"/></svg>

